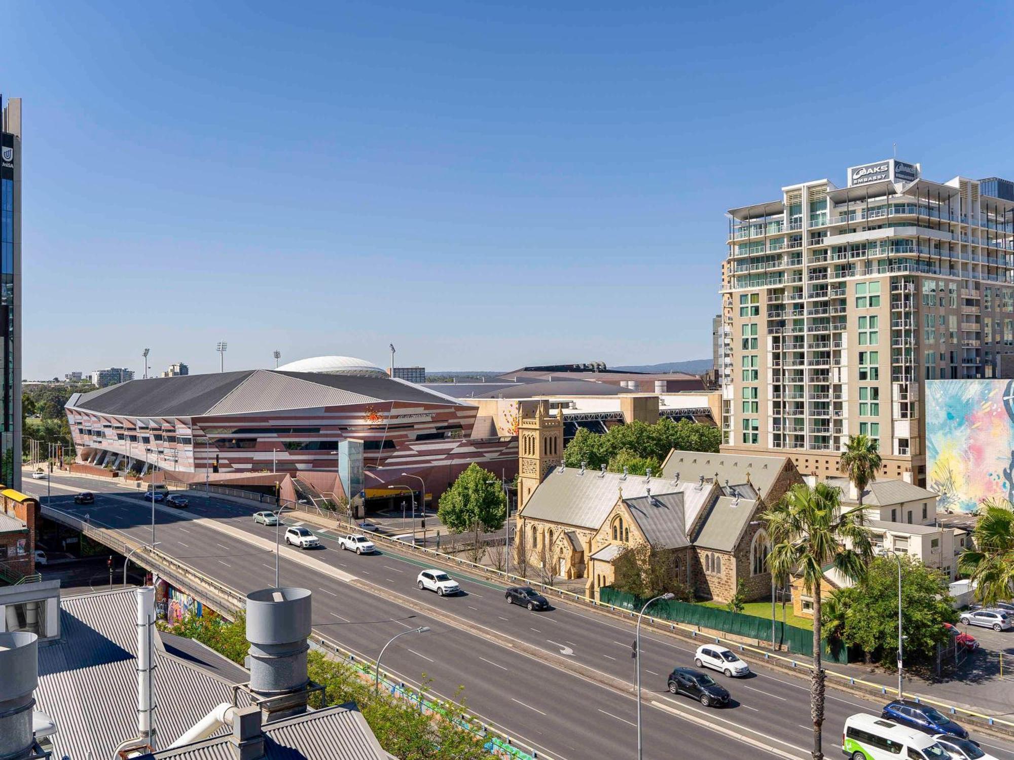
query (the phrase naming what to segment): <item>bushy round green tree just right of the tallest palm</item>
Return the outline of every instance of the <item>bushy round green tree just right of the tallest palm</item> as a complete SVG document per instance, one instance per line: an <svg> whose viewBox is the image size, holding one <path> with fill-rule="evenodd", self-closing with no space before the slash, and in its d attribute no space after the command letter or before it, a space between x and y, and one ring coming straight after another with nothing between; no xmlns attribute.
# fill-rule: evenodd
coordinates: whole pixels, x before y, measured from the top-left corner
<svg viewBox="0 0 1014 760"><path fill-rule="evenodd" d="M860 647L867 660L895 666L897 651L897 560L878 557L852 590L842 638ZM901 557L901 630L904 661L929 662L948 638L944 623L957 620L947 579L918 559Z"/></svg>

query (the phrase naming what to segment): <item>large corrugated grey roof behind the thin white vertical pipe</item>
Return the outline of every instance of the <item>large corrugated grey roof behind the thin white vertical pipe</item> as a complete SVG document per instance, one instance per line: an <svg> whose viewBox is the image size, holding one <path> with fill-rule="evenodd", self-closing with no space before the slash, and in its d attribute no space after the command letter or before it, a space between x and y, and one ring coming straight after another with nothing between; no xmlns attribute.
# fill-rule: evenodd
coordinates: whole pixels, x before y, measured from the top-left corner
<svg viewBox="0 0 1014 760"><path fill-rule="evenodd" d="M113 756L137 736L137 672L133 589L61 600L61 638L39 648L39 709L56 721L54 757ZM155 652L155 728L168 743L221 702L230 684L200 667ZM248 704L243 692L240 704Z"/></svg>

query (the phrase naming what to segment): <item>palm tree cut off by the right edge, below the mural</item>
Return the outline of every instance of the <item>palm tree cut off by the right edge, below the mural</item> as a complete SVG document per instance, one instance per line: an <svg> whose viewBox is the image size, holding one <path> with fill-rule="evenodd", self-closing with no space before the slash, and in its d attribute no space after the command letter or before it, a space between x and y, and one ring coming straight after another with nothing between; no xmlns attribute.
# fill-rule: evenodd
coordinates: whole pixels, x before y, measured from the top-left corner
<svg viewBox="0 0 1014 760"><path fill-rule="evenodd" d="M1009 599L1014 589L1014 506L1006 499L984 500L971 535L974 548L961 552L958 569L975 584L983 604Z"/></svg>

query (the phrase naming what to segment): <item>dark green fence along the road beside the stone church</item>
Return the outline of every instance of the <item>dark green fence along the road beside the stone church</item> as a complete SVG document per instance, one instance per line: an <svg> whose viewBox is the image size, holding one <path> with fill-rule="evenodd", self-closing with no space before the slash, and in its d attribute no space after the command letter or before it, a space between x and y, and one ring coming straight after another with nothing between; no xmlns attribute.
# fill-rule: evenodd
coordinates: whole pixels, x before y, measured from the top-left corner
<svg viewBox="0 0 1014 760"><path fill-rule="evenodd" d="M647 601L639 599L633 594L617 591L608 587L599 589L598 598L603 604L620 607L625 610L639 612ZM756 615L744 615L741 612L729 612L716 607L706 607L703 604L692 604L690 602L677 602L675 600L659 600L651 605L648 613L660 620L672 620L673 622L686 623L687 625L700 625L702 628L721 630L725 633L732 633L746 638L755 638L759 641L771 640L771 620L769 618L757 617ZM789 652L813 656L813 631L809 628L799 628L795 625L785 625L781 620L775 621L775 640L787 647ZM836 651L828 651L826 640L824 641L824 657L836 663L847 663L848 653L844 648L836 648Z"/></svg>

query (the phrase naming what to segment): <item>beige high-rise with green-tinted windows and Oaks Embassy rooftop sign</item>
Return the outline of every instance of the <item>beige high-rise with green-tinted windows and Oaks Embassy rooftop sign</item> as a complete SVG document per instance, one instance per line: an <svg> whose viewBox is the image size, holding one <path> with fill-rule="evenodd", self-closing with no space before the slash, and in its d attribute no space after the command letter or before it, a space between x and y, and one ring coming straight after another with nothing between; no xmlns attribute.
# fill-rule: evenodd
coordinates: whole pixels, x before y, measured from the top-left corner
<svg viewBox="0 0 1014 760"><path fill-rule="evenodd" d="M924 381L1014 353L1014 201L921 173L878 161L728 212L723 450L823 477L863 433L882 476L925 484Z"/></svg>

